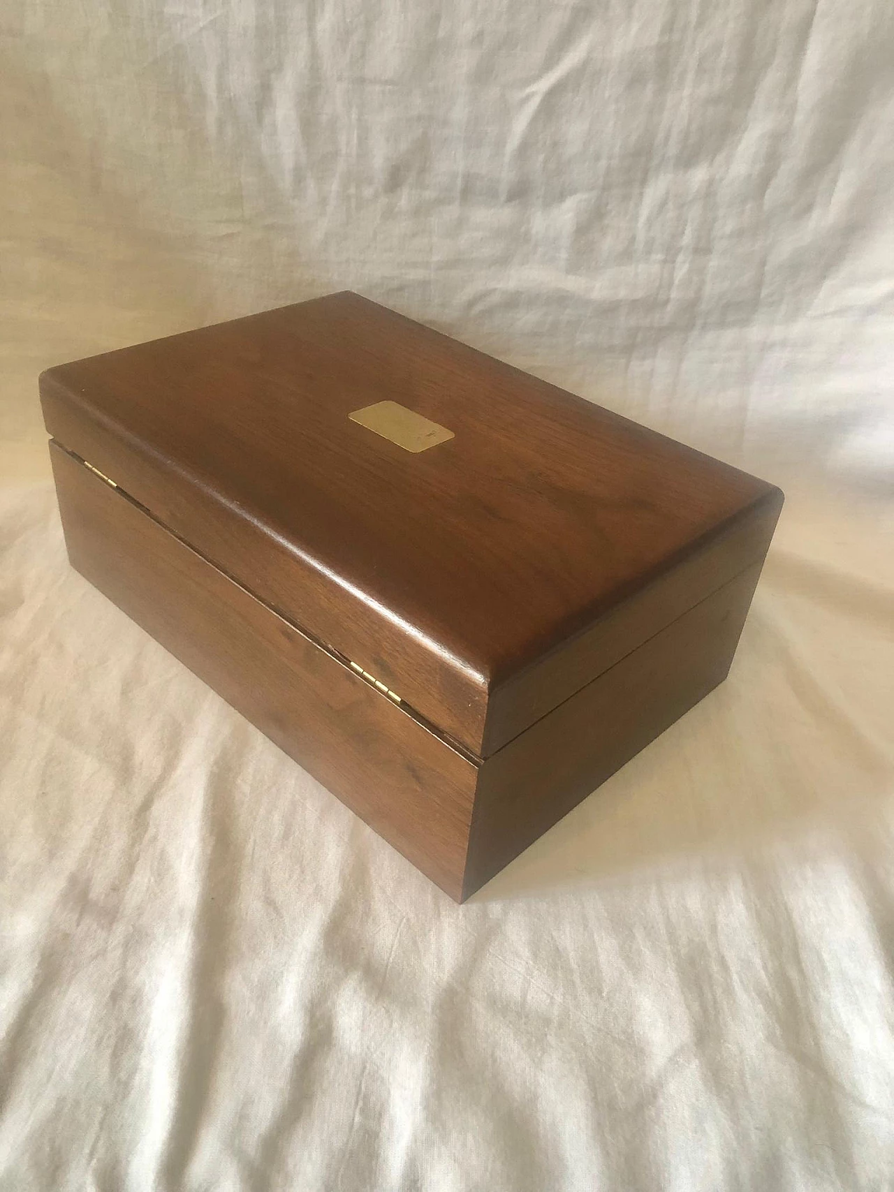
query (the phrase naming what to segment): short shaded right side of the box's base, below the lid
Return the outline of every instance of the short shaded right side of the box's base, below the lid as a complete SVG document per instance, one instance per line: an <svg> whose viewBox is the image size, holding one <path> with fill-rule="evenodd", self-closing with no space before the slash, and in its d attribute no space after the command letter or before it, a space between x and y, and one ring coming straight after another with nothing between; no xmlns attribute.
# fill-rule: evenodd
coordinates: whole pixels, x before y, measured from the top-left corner
<svg viewBox="0 0 894 1192"><path fill-rule="evenodd" d="M483 763L464 898L726 677L762 566L752 564Z"/></svg>

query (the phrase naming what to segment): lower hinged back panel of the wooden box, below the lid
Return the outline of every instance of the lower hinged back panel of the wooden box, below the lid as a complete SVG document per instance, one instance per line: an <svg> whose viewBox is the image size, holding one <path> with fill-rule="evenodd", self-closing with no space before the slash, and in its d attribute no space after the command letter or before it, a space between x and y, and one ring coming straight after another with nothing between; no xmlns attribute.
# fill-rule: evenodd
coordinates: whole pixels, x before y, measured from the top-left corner
<svg viewBox="0 0 894 1192"><path fill-rule="evenodd" d="M452 898L476 766L55 443L73 566Z"/></svg>

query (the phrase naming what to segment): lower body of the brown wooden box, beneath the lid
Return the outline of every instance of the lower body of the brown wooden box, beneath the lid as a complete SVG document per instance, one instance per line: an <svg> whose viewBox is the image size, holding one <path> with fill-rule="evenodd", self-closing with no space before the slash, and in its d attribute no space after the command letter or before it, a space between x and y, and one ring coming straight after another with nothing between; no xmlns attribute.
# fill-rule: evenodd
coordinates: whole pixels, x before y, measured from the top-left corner
<svg viewBox="0 0 894 1192"><path fill-rule="evenodd" d="M762 566L480 762L82 461L50 453L73 565L458 901L725 677Z"/></svg>

